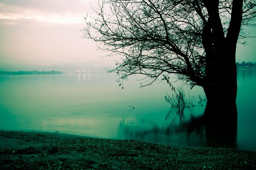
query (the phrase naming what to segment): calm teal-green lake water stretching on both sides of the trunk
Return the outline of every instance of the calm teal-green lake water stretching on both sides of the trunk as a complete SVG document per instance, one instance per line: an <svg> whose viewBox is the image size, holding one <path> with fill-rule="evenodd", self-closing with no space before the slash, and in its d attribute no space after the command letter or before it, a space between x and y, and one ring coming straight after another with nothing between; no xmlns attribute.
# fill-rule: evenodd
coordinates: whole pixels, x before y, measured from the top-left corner
<svg viewBox="0 0 256 170"><path fill-rule="evenodd" d="M130 78L121 89L115 75L105 73L1 76L0 128L208 146L204 130L188 134L181 126L203 114L204 103L198 104L203 90L183 86L196 106L178 115L164 99L166 92L172 94L167 84L140 88L140 78ZM256 72L239 72L238 86L234 142L239 149L256 150Z"/></svg>

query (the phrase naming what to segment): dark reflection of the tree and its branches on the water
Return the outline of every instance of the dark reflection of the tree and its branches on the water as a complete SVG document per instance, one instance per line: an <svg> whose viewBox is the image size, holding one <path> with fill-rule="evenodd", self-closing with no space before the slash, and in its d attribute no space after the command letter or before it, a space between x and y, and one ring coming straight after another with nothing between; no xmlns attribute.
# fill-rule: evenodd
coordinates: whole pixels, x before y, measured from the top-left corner
<svg viewBox="0 0 256 170"><path fill-rule="evenodd" d="M206 112L195 117L192 109L179 112L172 108L166 115L168 126L151 124L150 127L119 124L119 138L136 139L188 147L232 147L236 148L237 118L225 118L219 114L207 117ZM189 111L188 111L189 110ZM207 110L206 110L207 111ZM216 109L213 109L216 112ZM221 121L219 121L221 119ZM235 122L235 123L234 123Z"/></svg>

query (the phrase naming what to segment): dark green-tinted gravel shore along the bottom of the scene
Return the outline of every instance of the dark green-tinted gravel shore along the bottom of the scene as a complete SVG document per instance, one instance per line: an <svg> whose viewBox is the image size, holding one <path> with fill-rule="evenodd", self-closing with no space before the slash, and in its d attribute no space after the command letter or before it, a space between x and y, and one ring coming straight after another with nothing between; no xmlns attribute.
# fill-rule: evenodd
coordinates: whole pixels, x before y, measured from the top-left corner
<svg viewBox="0 0 256 170"><path fill-rule="evenodd" d="M47 132L0 132L1 170L255 170L256 152Z"/></svg>

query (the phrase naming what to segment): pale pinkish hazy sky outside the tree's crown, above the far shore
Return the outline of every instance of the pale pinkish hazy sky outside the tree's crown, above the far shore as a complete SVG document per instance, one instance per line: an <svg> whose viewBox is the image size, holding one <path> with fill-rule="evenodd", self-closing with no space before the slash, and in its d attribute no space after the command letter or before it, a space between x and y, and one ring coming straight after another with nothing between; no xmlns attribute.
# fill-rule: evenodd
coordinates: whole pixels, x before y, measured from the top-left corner
<svg viewBox="0 0 256 170"><path fill-rule="evenodd" d="M93 40L83 38L97 0L0 0L0 70L113 66ZM256 27L250 28L256 36ZM238 44L236 61L256 62L256 38ZM62 67L61 67L62 66ZM64 71L64 70L60 70Z"/></svg>

